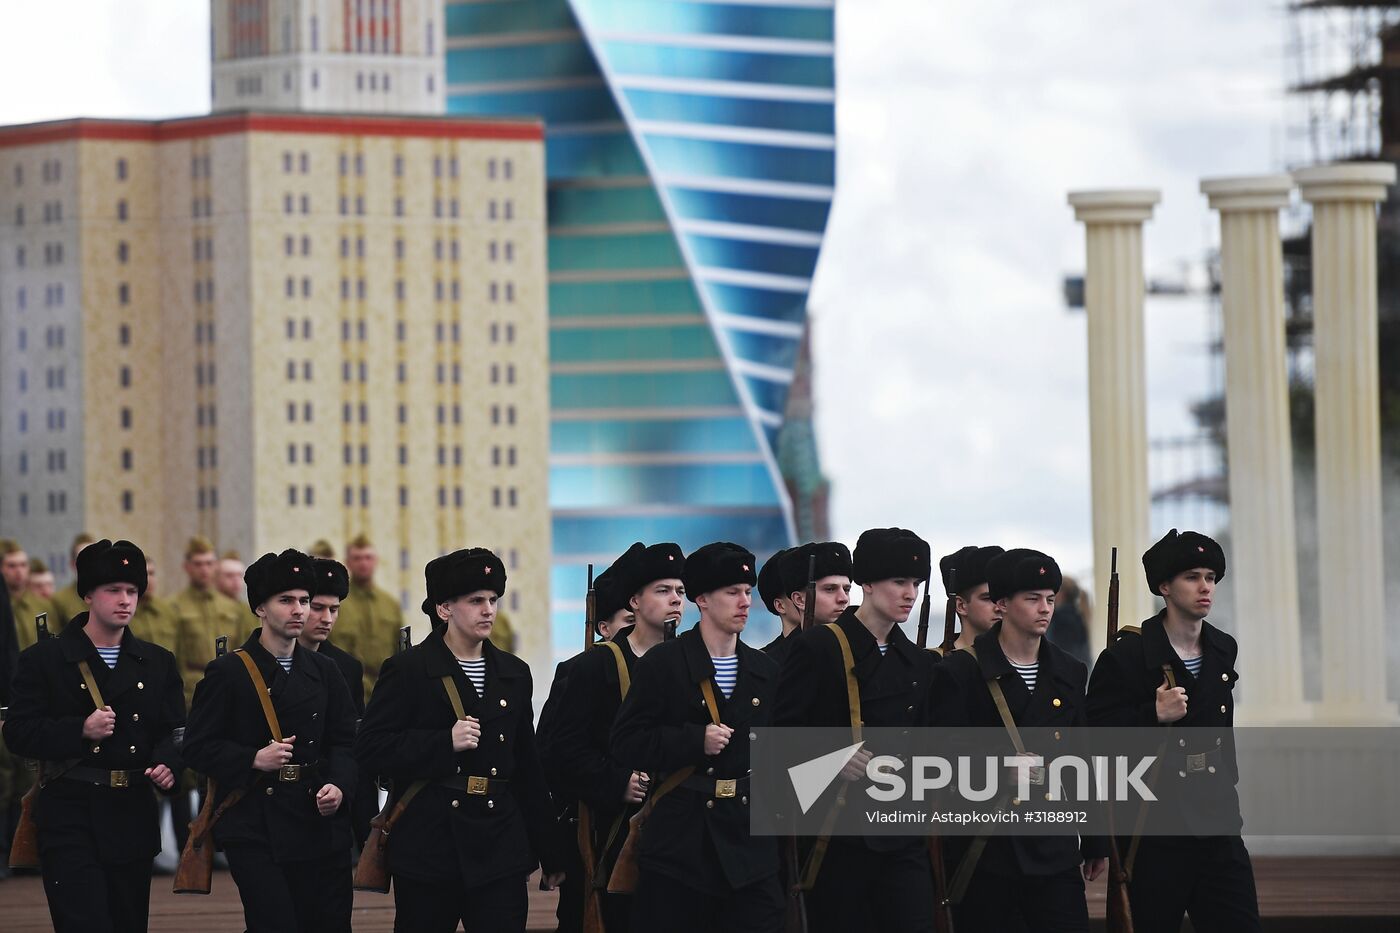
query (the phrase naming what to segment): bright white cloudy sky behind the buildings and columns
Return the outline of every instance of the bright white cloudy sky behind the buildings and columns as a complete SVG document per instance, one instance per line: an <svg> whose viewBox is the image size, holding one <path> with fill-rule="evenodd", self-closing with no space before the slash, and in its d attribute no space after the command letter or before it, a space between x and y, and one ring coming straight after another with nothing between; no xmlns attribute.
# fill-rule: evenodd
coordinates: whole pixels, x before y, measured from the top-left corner
<svg viewBox="0 0 1400 933"><path fill-rule="evenodd" d="M203 0L10 0L0 123L209 108ZM839 193L812 294L836 534L902 524L1086 570L1075 188L1154 186L1149 272L1214 240L1198 179L1281 158L1282 14L1242 0L837 4ZM1204 301L1149 303L1149 433L1210 389Z"/></svg>

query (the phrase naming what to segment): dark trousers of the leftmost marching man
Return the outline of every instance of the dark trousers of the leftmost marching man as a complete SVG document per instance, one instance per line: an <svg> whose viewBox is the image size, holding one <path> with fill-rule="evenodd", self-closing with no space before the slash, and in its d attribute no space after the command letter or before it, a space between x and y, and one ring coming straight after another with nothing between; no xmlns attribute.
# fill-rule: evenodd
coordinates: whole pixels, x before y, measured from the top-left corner
<svg viewBox="0 0 1400 933"><path fill-rule="evenodd" d="M39 836L43 894L55 933L146 933L151 860L101 864L97 841L64 831Z"/></svg>

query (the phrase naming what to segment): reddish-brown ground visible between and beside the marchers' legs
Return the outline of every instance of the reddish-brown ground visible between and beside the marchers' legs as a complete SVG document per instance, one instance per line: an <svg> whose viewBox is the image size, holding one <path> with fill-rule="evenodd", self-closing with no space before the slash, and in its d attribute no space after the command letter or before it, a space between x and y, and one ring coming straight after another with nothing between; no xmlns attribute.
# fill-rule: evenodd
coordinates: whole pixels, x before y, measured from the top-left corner
<svg viewBox="0 0 1400 933"><path fill-rule="evenodd" d="M1400 932L1400 857L1256 859L1254 873L1260 911L1271 933ZM153 933L237 933L244 929L238 891L227 871L214 874L214 892L209 897L176 897L169 892L169 876L158 876L151 885ZM554 897L539 891L532 881L532 933L554 929ZM1102 881L1089 885L1089 912L1099 918L1103 916L1103 897ZM357 894L354 905L357 933L393 929L392 895ZM41 933L50 929L39 878L17 877L0 883L0 932Z"/></svg>

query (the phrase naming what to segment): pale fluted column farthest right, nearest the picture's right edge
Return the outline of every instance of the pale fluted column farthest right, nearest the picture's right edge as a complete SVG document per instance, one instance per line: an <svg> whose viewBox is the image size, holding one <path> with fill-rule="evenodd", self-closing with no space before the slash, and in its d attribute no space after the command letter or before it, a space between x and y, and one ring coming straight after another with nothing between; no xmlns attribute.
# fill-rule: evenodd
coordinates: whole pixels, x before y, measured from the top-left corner
<svg viewBox="0 0 1400 933"><path fill-rule="evenodd" d="M1393 723L1386 700L1380 530L1376 205L1389 163L1294 174L1313 206L1313 350L1322 705L1337 723Z"/></svg>

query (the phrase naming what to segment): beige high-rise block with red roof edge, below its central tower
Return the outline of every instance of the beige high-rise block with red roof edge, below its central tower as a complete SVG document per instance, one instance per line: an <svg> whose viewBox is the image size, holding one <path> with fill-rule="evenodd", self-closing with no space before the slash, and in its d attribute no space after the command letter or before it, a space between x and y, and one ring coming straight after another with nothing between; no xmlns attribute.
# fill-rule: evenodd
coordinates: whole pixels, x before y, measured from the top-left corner
<svg viewBox="0 0 1400 933"><path fill-rule="evenodd" d="M511 573L549 647L536 122L217 113L0 127L0 531L245 556L368 534Z"/></svg>

